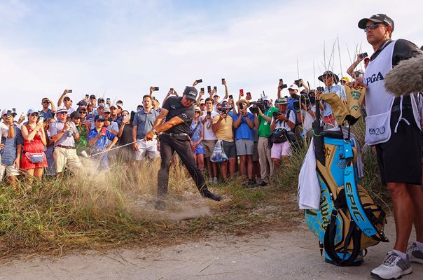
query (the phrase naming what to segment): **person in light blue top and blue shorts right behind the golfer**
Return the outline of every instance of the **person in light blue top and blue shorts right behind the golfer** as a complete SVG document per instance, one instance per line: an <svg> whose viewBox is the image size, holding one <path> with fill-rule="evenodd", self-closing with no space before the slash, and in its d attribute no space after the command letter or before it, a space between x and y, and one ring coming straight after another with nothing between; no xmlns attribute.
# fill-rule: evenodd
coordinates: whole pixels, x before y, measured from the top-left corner
<svg viewBox="0 0 423 280"><path fill-rule="evenodd" d="M194 160L198 169L202 172L204 169L204 146L202 139L204 137L204 127L202 126L199 117L202 116L200 107L194 107L194 118L190 129L190 146L194 154Z"/></svg>

